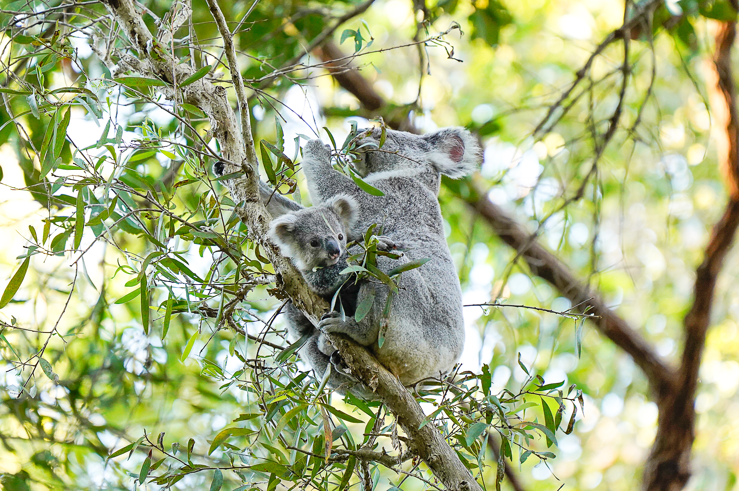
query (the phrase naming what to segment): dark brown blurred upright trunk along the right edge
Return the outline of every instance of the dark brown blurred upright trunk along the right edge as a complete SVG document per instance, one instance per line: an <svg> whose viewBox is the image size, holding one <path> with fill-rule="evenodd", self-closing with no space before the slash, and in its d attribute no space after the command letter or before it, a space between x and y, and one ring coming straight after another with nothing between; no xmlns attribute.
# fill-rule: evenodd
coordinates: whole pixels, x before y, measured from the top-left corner
<svg viewBox="0 0 739 491"><path fill-rule="evenodd" d="M644 468L644 490L681 490L690 477L690 452L695 439L695 392L698 369L711 322L716 281L739 227L739 117L731 51L736 22L720 22L715 54L706 87L718 143L719 165L729 193L723 216L713 227L704 260L695 271L693 303L685 316L683 356L675 391L658 401L657 436Z"/></svg>

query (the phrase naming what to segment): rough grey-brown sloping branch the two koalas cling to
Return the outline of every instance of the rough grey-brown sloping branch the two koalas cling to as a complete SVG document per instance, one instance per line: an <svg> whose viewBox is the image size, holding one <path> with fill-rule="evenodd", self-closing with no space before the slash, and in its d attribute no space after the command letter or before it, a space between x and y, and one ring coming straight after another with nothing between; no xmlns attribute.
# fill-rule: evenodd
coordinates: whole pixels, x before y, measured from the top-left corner
<svg viewBox="0 0 739 491"><path fill-rule="evenodd" d="M369 7L371 1L367 1L366 4ZM122 68L166 80L173 86L163 89L165 95L176 99L177 91L180 91L181 100L199 107L208 114L214 137L220 144L222 159L227 164L226 171L233 172L241 169L244 172L244 176L230 179L225 184L234 202L242 203L242 220L247 224L251 238L259 241L264 247L265 255L275 269L278 286L282 286L283 291L294 305L298 306L313 323L317 323L328 310L327 302L310 292L290 261L280 255L279 250L266 239L271 216L259 200L258 162L254 154L251 128L248 127L248 106L246 106L242 83L239 88L241 78L231 34L228 32L227 24L225 24L216 0L208 0L208 6L224 38L226 56L232 70L232 80L236 86L236 97L239 101L242 122L246 124L243 128L236 121L236 114L228 102L226 90L223 87L214 86L204 79L183 88L174 87L177 82L192 75L194 69L184 64L177 64L165 50L157 49L157 41L144 24L133 0L107 0L106 6L115 16L118 24L123 27L126 36L132 41L132 48L137 51L136 57L120 55L119 63ZM109 58L108 61L110 61ZM332 335L330 339L346 360L355 377L374 388L378 396L395 414L401 427L409 436L412 449L426 462L444 486L449 490L482 491L480 485L474 481L469 470L464 467L437 428L433 425L425 425L418 430L426 415L415 398L398 382L398 379L380 365L366 349L344 337Z"/></svg>

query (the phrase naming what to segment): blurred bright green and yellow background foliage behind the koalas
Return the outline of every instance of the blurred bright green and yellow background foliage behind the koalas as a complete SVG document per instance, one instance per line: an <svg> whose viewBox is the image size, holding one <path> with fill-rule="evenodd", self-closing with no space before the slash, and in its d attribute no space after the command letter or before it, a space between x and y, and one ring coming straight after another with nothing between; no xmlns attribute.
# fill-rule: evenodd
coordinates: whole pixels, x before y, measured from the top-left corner
<svg viewBox="0 0 739 491"><path fill-rule="evenodd" d="M172 7L162 0L143 4L160 18ZM18 35L13 27L16 12L42 5L38 0L2 2L0 23L5 34L0 44L6 67L8 57L18 56L19 50L33 42L16 38L10 44L10 38ZM253 2L222 2L231 25L239 28L236 39L245 78L260 89L250 101L255 140L276 141L276 114L282 121L289 157L296 154L293 139L298 134L327 140L327 134L319 131L327 126L336 140L343 141L351 120L358 121L360 127L368 123L364 119L367 112L355 97L323 69L303 69L271 85L265 83L274 69L301 55L311 39L357 6L333 0L263 0L256 3L247 22L237 24ZM447 30L452 22L459 23L460 30L444 37L454 48L456 60L449 58L443 47L426 47L419 59L418 48L406 46L368 53L356 63L361 64L361 74L374 89L390 105L401 108L403 117L407 114L421 131L449 125L476 130L485 151L480 174L472 180L489 190L491 201L514 213L531 230L541 227L542 241L581 278L588 278L610 306L670 360L679 352L681 322L689 306L695 265L701 261L709 228L720 215L725 198L703 86L711 50L711 18L728 15L727 6L722 1L706 4L690 0L658 6L653 20L655 35L642 32L630 43L632 78L621 127L598 162L596 179L585 185L582 199L575 201L568 197L590 173L596 154L591 135L598 128L602 131L619 98L622 48L608 47L595 59L588 74L590 89L583 91L574 109L550 132L543 138L532 137L532 132L560 90L571 83L573 72L608 32L622 24L621 2L441 0L424 5L377 0L361 16L338 27L333 38L338 44L344 29L358 31L365 50L372 40L371 51L407 45L409 40L426 38ZM192 29L198 40L197 49L190 50L192 60L195 66L212 64L214 56L205 57L202 52L219 55L217 30L204 1L193 0L192 10ZM85 2L84 11L93 19L106 13L103 5L95 2ZM84 19L72 18L72 12L65 15L60 17L60 25L84 24ZM146 20L155 30L151 16ZM87 32L94 33L94 27L92 24ZM47 24L44 28L45 32L34 33L51 38L54 27ZM126 218L108 242L95 242L100 232L91 225L80 238L82 249L89 246L89 251L84 260L72 264L78 258L69 251L72 241L78 240L77 202L66 188L55 188L54 183L57 179L65 182L65 176L74 174L74 146L95 145L102 134L112 147L109 159L110 152L122 157L126 144L142 138L146 131L182 141L188 130L183 130L172 114L137 100L123 89L114 91L118 102L107 96L96 103L95 96L104 91L98 90L98 82L88 84L88 80L110 78L98 58L99 49L98 54L93 52L92 41L82 32L67 40L67 49L74 52L72 61L59 57L44 64L38 58L33 62L14 59L11 66L16 72L15 90L30 89L31 85L47 91L78 86L94 92L92 97L78 94L78 100L87 106L81 102L69 106L67 135L74 145L61 143L54 154L61 161L52 159L44 173L43 159L35 150L44 147L50 126L50 117L43 117L44 103L42 117L36 117L33 113L39 109L33 109L38 105L33 95L29 100L25 93L9 92L0 108L0 124L11 117L21 123L0 129L0 184L5 189L0 204L5 238L0 247L0 277L11 278L24 256L30 258L23 283L0 313L4 323L0 336L0 484L13 491L132 489L134 478L129 473L140 473L146 451L131 456L123 453L110 460L106 456L137 442L145 432L151 442L165 432L166 444L179 442L182 453L187 451L188 440L194 439L193 456L200 459L195 461L208 461L214 438L224 428L234 426L232 422L242 417L251 425L245 428L256 430L262 421L239 416L261 412L257 403L263 394L256 394L253 388L243 390L238 382L229 383L244 364L235 351L240 350L249 360L259 360L262 365L257 368L275 374L276 380L281 373L293 377L305 369L294 357L287 363L283 360L282 365L277 363L273 348L262 346L258 351L253 341L245 342L232 330L214 332L208 314L220 309L215 289L200 299L211 309L205 315L188 312L186 302L174 303L166 336L163 317L168 295L162 288L152 292L148 335L145 333L144 304L129 294L134 295L140 286L137 273L151 252L148 237L172 236L171 230L180 225L159 219L163 213ZM341 48L352 52L356 40L352 35ZM313 55L306 60L306 64L316 62ZM219 73L223 73L220 68L216 78ZM19 77L33 83L18 82ZM11 80L5 79L3 85L11 86ZM233 97L231 91L229 94ZM197 111L184 109L179 114L194 128L208 128L207 119ZM113 128L123 128L122 134L116 135L106 121L112 121ZM139 151L137 159L129 158L120 179L133 190L143 190L143 196L149 189L164 190L167 206L188 220L222 218L228 222L231 212L221 208L233 203L228 203L219 182L206 177L212 159L185 159L176 154L175 146L160 150L149 155ZM103 154L105 148L98 146L94 151ZM130 152L126 155L130 157ZM50 171L53 174L48 174ZM296 174L295 179L307 204L302 177ZM465 303L485 303L497 297L556 311L571 307L551 286L512 262L514 252L466 205L464 198L474 192L468 185L445 184L440 202L449 224L449 246L460 272ZM24 189L27 186L30 188ZM146 202L140 196L128 196L131 207ZM94 202L95 197L87 193L84 199ZM122 217L124 209L121 205L118 216L112 218ZM102 205L92 213L100 210ZM236 233L244 233L241 225L235 227ZM185 230L172 239L179 241L175 249L183 251L180 264L186 264L170 265L179 267L178 278L202 280L218 271L210 249L206 249L214 238L207 232L197 233L205 235L188 236ZM27 247L47 241L47 236L60 235L56 244L50 245L50 252L56 255L27 252ZM253 261L248 268L258 272L262 268L259 251L252 248L247 254ZM715 326L701 368L691 490L735 489L739 472L739 292L732 288L739 263L735 257L729 258L721 276ZM217 274L228 277L234 272ZM181 290L177 290L178 295L182 295ZM271 343L285 346L279 316L276 329L264 329L265 321L280 304L265 286L256 286L237 316L249 334L266 333ZM576 356L576 325L566 317L479 307L466 307L465 317L467 342L462 369L480 373L483 364L489 365L493 391L508 387L516 392L520 388L526 375L519 359L546 382L565 380L565 387L576 383L584 391L585 412L578 414L574 432L561 435L559 447L551 449L556 459L548 461L548 466L537 459L522 464L520 477L525 489L555 490L561 484L563 490L625 491L638 487L640 466L655 434L657 408L630 357L587 323L582 356ZM50 367L38 366L40 362L33 356L39 352ZM32 361L19 365L24 360ZM304 380L309 379L298 379L298 385ZM338 394L333 395L332 404L350 411ZM363 422L347 422L347 427L361 436L367 418L352 414ZM229 441L253 443L248 436L236 437ZM389 439L386 445L392 447ZM211 458L227 460L223 452L239 450L232 446L215 450ZM265 457L271 453L276 458L285 450L270 450L268 441L256 447ZM282 455L279 459L294 457ZM486 458L488 463L495 460L491 453ZM487 482L492 483L494 467L487 472ZM174 487L205 489L211 486L212 475L193 473ZM386 490L392 486L390 480L398 480L398 475L388 470L377 470L372 473L375 476L378 490ZM224 489L231 490L240 478L250 476L226 472L224 477ZM358 486L355 478L351 483ZM409 479L403 489L424 486Z"/></svg>

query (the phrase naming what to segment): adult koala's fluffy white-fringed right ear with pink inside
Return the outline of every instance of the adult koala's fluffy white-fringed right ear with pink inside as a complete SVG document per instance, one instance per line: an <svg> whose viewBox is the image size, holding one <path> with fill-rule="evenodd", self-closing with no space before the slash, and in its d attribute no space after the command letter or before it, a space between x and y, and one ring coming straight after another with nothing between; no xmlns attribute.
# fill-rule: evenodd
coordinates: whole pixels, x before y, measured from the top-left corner
<svg viewBox="0 0 739 491"><path fill-rule="evenodd" d="M436 170L452 179L469 176L480 164L477 138L461 126L450 126L423 138L431 145L431 159Z"/></svg>

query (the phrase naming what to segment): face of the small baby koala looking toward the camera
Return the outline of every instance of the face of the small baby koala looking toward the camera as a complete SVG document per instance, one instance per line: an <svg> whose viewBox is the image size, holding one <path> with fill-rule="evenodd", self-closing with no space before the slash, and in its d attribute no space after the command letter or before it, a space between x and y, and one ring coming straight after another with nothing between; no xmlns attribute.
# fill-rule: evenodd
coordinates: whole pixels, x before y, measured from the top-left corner
<svg viewBox="0 0 739 491"><path fill-rule="evenodd" d="M276 219L271 234L282 253L303 271L333 266L347 247L344 225L330 209L310 207Z"/></svg>

